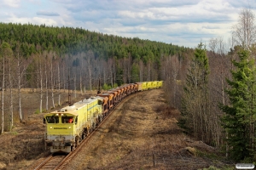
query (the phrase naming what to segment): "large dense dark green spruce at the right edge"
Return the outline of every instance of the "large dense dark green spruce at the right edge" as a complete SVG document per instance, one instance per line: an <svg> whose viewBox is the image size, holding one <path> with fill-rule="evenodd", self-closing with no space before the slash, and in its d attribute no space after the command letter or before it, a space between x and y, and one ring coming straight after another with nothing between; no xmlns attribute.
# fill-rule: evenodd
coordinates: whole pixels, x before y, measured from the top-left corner
<svg viewBox="0 0 256 170"><path fill-rule="evenodd" d="M250 159L255 154L256 84L254 60L247 50L241 50L239 61L233 60L236 71L231 71L232 80L227 80L230 88L226 93L230 105L221 105L225 115L222 118L227 134L229 156L235 161Z"/></svg>

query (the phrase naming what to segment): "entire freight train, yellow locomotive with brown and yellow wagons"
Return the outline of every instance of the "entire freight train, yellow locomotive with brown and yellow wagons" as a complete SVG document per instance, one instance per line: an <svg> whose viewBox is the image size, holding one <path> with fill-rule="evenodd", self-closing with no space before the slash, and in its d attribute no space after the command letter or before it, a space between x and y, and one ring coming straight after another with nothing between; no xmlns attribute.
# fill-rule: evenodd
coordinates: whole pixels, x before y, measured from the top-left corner
<svg viewBox="0 0 256 170"><path fill-rule="evenodd" d="M45 114L45 146L51 153L73 151L122 99L139 91L161 88L162 84L163 81L125 84Z"/></svg>

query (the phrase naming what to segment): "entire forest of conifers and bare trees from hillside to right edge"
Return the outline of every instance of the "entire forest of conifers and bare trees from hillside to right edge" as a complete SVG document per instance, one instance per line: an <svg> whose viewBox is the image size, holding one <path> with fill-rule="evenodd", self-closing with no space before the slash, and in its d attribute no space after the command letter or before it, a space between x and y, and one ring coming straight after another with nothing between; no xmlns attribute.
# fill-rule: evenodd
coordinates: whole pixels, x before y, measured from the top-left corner
<svg viewBox="0 0 256 170"><path fill-rule="evenodd" d="M255 28L252 11L244 9L229 41L216 37L193 49L82 28L1 23L2 133L11 129L3 122L13 121L4 112L18 111L19 121L24 119L22 102L12 105L12 89L20 100L22 88L43 100L46 93L67 89L70 79L69 88L81 94L96 89L99 79L104 89L163 80L184 133L223 150L230 160L256 161ZM42 102L38 108L44 110Z"/></svg>

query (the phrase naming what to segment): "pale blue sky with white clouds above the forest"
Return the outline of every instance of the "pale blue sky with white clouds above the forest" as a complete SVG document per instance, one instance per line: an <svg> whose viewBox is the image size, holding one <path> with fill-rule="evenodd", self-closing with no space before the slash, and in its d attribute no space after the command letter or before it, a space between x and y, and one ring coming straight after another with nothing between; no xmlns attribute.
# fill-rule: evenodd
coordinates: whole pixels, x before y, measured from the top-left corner
<svg viewBox="0 0 256 170"><path fill-rule="evenodd" d="M0 0L0 22L79 27L196 48L231 35L255 0ZM0 32L1 33L1 32Z"/></svg>

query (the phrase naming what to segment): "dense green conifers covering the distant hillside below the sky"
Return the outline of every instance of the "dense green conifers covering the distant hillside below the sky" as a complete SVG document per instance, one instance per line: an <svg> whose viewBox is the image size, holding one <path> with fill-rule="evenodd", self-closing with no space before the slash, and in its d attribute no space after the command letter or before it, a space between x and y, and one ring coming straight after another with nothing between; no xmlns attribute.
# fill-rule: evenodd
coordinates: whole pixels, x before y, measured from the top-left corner
<svg viewBox="0 0 256 170"><path fill-rule="evenodd" d="M0 31L1 42L8 42L13 50L20 43L21 52L26 57L51 50L59 55L76 55L91 50L96 58L122 59L130 54L132 59L147 62L148 59L159 59L163 54L181 54L189 49L172 43L118 37L64 26L0 23Z"/></svg>

